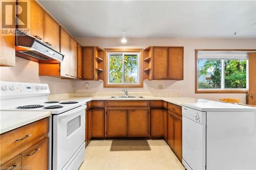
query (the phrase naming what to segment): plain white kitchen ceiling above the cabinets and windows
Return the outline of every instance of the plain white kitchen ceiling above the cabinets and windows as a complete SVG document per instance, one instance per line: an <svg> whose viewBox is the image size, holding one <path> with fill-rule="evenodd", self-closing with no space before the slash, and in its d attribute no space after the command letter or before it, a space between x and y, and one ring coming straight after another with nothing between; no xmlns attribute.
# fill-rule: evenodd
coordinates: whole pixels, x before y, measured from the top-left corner
<svg viewBox="0 0 256 170"><path fill-rule="evenodd" d="M74 37L256 38L256 1L39 3Z"/></svg>

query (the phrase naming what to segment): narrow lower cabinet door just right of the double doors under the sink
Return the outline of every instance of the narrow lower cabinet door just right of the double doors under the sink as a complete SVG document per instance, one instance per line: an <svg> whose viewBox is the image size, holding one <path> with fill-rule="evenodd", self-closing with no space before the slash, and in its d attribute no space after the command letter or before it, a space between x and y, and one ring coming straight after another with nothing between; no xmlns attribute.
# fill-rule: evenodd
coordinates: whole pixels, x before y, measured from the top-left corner
<svg viewBox="0 0 256 170"><path fill-rule="evenodd" d="M151 109L151 138L163 138L163 109Z"/></svg>

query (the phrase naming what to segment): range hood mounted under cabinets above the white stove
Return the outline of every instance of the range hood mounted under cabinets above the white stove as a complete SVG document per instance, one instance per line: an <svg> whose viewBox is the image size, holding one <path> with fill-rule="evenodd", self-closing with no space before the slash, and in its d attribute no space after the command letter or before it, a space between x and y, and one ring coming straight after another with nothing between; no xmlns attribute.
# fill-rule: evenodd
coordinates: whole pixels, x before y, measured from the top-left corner
<svg viewBox="0 0 256 170"><path fill-rule="evenodd" d="M34 37L16 31L15 55L35 62L62 62L64 55Z"/></svg>

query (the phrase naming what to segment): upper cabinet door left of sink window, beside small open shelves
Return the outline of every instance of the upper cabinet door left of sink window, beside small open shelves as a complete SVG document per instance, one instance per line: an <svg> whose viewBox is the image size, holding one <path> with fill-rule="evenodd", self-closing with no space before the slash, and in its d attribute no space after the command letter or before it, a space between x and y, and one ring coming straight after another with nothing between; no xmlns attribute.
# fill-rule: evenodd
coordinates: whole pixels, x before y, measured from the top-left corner
<svg viewBox="0 0 256 170"><path fill-rule="evenodd" d="M95 48L82 47L82 79L95 80Z"/></svg>

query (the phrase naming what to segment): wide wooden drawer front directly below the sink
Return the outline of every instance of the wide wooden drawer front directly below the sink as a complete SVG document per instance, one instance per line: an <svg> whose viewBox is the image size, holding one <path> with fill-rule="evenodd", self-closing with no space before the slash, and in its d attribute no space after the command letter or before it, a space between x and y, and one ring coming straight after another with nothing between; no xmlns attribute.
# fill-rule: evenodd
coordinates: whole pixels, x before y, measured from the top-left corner
<svg viewBox="0 0 256 170"><path fill-rule="evenodd" d="M148 107L148 101L106 101L106 107Z"/></svg>

